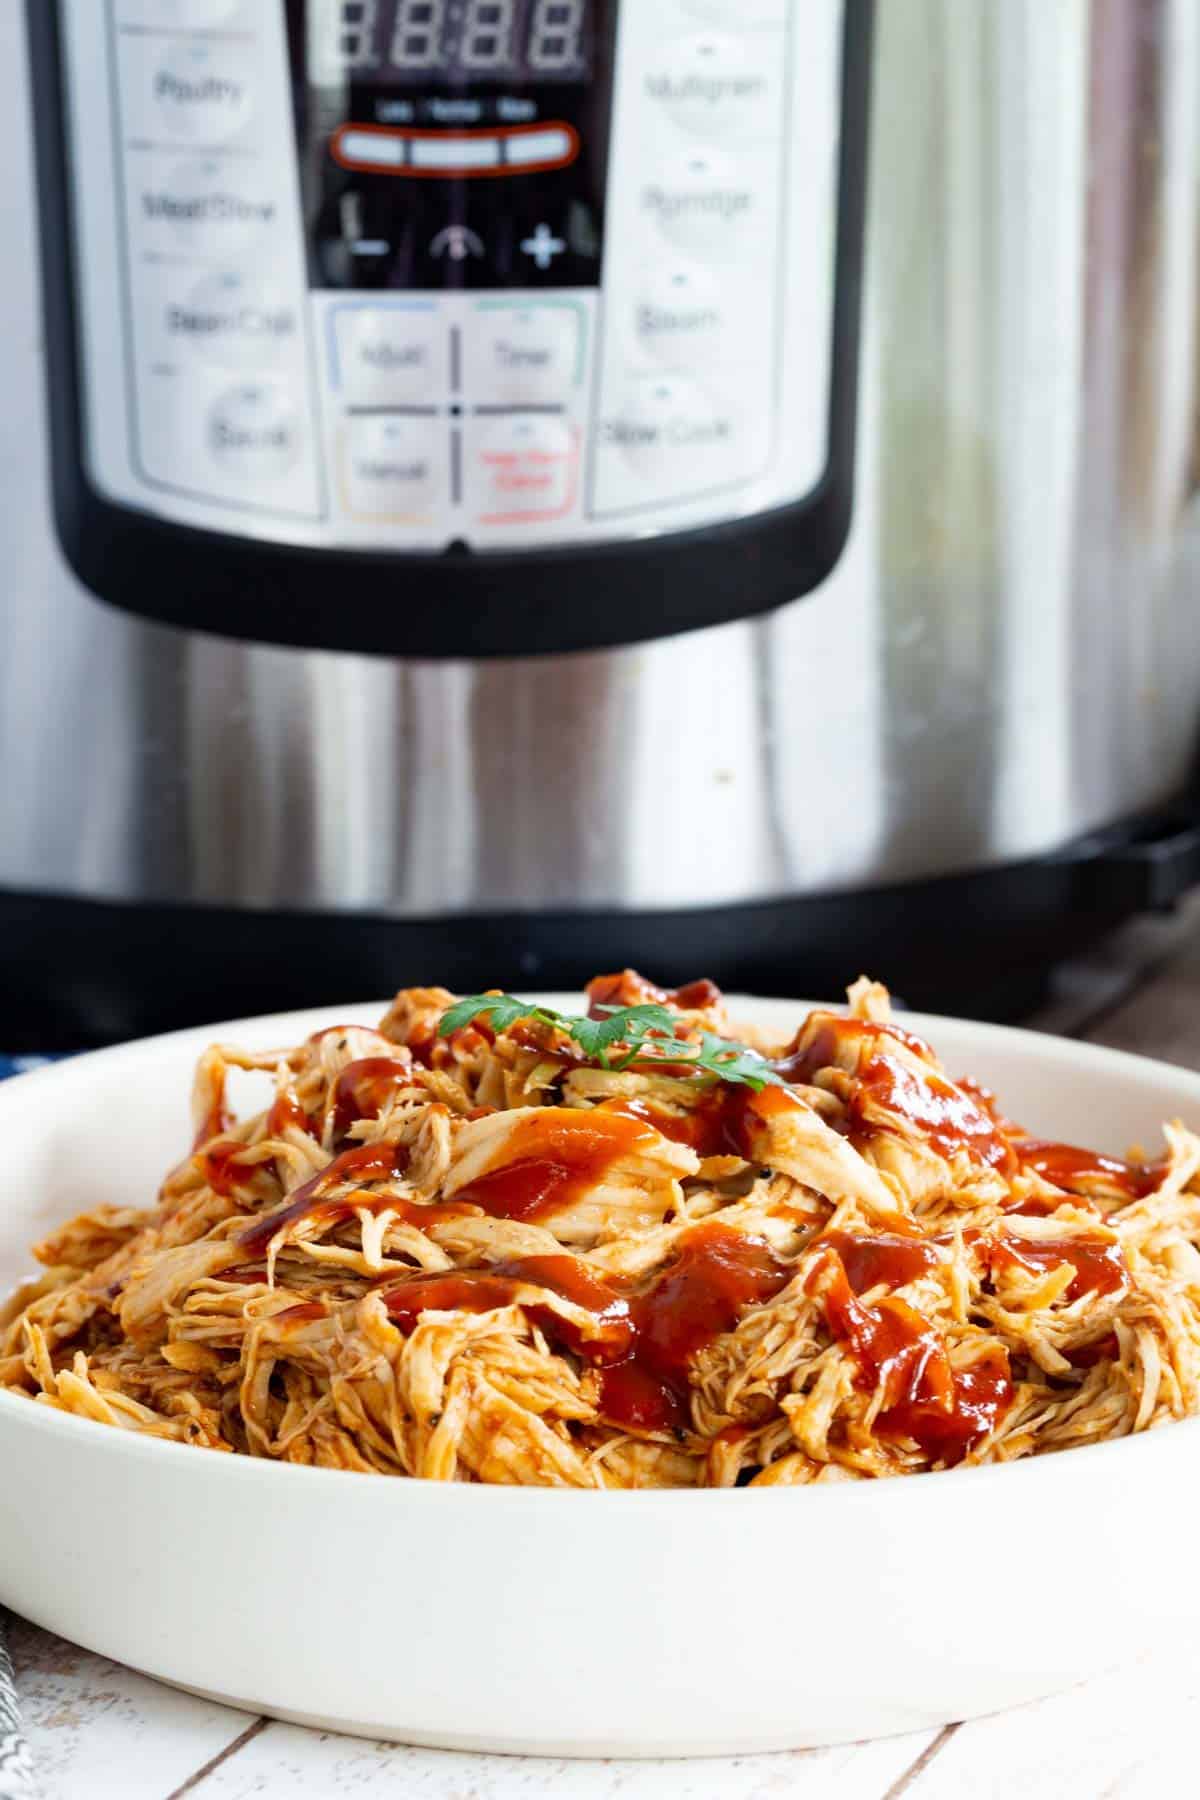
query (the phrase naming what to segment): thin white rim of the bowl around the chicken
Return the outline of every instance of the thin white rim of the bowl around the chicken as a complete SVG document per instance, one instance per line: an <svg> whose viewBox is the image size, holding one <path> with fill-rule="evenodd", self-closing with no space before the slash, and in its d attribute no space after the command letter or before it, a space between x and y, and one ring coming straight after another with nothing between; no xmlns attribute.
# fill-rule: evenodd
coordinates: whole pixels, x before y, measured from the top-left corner
<svg viewBox="0 0 1200 1800"><path fill-rule="evenodd" d="M531 997L538 1001L554 1004L558 1001L572 1001L578 995L565 990L534 990ZM727 994L725 995L732 1012L738 1004L747 1006L766 1006L766 1008L837 1008L842 1003L837 1001L806 1001L806 999L788 999L783 995L756 995L756 994ZM32 1084L36 1085L70 1085L72 1082L86 1082L90 1073L103 1064L103 1067L112 1069L121 1062L137 1062L148 1053L157 1049L182 1048L184 1042L234 1042L239 1033L252 1033L259 1026L268 1026L272 1031L288 1030L290 1026L300 1026L300 1022L320 1021L329 1017L336 1021L344 1013L358 1013L367 1010L376 1010L381 1015L390 1001L345 1001L336 1006L302 1006L293 1008L284 1013L252 1013L243 1019L225 1019L214 1024L185 1026L176 1031L160 1031L153 1037L130 1039L122 1044L108 1044L101 1049L81 1051L76 1057L68 1057L61 1062L45 1064L41 1067L25 1069L0 1082L0 1125L4 1121L4 1112L9 1105L20 1105L29 1094ZM1051 1062L1074 1064L1083 1067L1105 1067L1110 1073L1126 1073L1139 1085L1151 1084L1153 1075L1169 1076L1171 1084L1182 1084L1191 1087L1195 1093L1196 1107L1200 1109L1200 1071L1180 1067L1178 1064L1166 1062L1159 1057L1144 1057L1128 1049L1110 1049L1105 1044L1090 1044L1079 1039L1067 1039L1056 1033L1031 1031L1024 1026L1009 1024L991 1024L988 1021L975 1019L955 1019L946 1013L921 1013L909 1012L907 1008L898 1008L898 1013L905 1028L912 1028L921 1035L936 1037L936 1033L950 1026L952 1030L970 1030L981 1035L984 1040L995 1042L1007 1049L1020 1051L1022 1048L1036 1046L1040 1057L1049 1057ZM365 1024L362 1019L345 1019L347 1024ZM309 1030L322 1030L320 1024L309 1026ZM367 1026L371 1030L371 1026ZM7 1431L9 1422L23 1420L34 1431L43 1431L49 1436L59 1436L65 1442L76 1440L83 1445L92 1433L92 1444L101 1454L110 1456L130 1456L133 1460L149 1458L151 1462L160 1456L178 1458L194 1456L200 1453L198 1445L178 1444L169 1438L155 1438L137 1431L124 1431L121 1427L101 1424L94 1418L81 1418L76 1413L61 1413L56 1408L40 1402L32 1397L7 1391L0 1388L0 1427ZM804 1492L815 1499L819 1494L829 1499L838 1496L842 1505L873 1505L874 1496L880 1489L889 1494L905 1494L914 1485L919 1492L927 1490L930 1480L941 1483L943 1480L954 1476L959 1489L964 1492L964 1501L973 1494L982 1480L995 1481L997 1478L1011 1480L1016 1471L1024 1471L1024 1481L1029 1485L1034 1480L1060 1480L1056 1474L1063 1460L1076 1467L1083 1465L1087 1458L1087 1469L1099 1474L1097 1458L1099 1456L1119 1456L1126 1454L1135 1444L1142 1445L1142 1454L1150 1444L1160 1444L1166 1433L1168 1444L1178 1442L1180 1435L1187 1435L1196 1440L1200 1431L1200 1415L1191 1418L1169 1420L1160 1427L1151 1431L1126 1433L1121 1438L1106 1438L1101 1444L1078 1444L1063 1451L1047 1451L1042 1456L1020 1456L1011 1463L982 1463L970 1469L932 1469L918 1471L916 1481L912 1478L898 1476L889 1480L865 1480L865 1481L831 1481L828 1485L804 1483L801 1489L795 1487L765 1487L756 1489L752 1505L781 1505L793 1498L797 1492ZM1184 1444L1178 1449L1184 1451ZM182 1467L176 1463L176 1467ZM560 1487L509 1487L498 1483L484 1481L430 1481L421 1478L381 1478L378 1481L363 1480L363 1471L356 1469L315 1469L306 1463L286 1463L266 1456L237 1456L221 1454L210 1451L201 1469L209 1471L209 1476L216 1469L227 1469L227 1476L218 1476L218 1480L236 1480L236 1481L286 1481L295 1483L297 1474L304 1476L309 1485L318 1481L336 1481L340 1490L340 1499L345 1501L347 1481L354 1483L358 1492L363 1496L363 1505L390 1505L387 1496L394 1496L396 1489L408 1498L412 1505L444 1505L452 1494L488 1494L491 1496L486 1505L536 1505L536 1507L554 1507L554 1505L576 1505L579 1496L588 1496L588 1505L599 1505L606 1501L610 1507L646 1507L662 1505L664 1501L676 1505L680 1496L687 1496L685 1505L691 1507L727 1507L730 1501L745 1503L745 1496L750 1489L560 1489ZM198 1472L201 1472L198 1469ZM1079 1467L1079 1476L1085 1469ZM966 1483L972 1483L968 1489ZM299 1494L299 1490L295 1490ZM313 1485L313 1492L317 1487ZM376 1496L369 1499L367 1496ZM416 1498L421 1496L421 1498ZM531 1496L536 1496L531 1498ZM774 1496L774 1498L768 1498ZM811 1503L810 1499L810 1503ZM457 1503L457 1501L452 1501ZM482 1505L484 1501L471 1499L466 1505ZM885 1501L885 1505L912 1505L912 1499L903 1501L900 1498Z"/></svg>

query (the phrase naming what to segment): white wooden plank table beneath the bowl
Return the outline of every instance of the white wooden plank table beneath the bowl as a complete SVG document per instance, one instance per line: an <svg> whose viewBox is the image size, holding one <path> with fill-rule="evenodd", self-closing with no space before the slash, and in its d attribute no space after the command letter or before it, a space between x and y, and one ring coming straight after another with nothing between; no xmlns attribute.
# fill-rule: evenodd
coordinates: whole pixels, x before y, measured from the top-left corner
<svg viewBox="0 0 1200 1800"><path fill-rule="evenodd" d="M1200 1067L1200 905L1132 927L1069 970L1034 1022ZM1196 1505L1200 1516L1200 1494ZM1169 1559L1153 1579L1169 1580ZM371 1744L191 1699L22 1620L9 1620L9 1647L47 1800L1200 1795L1200 1633L1184 1654L1144 1656L1069 1694L972 1724L700 1762L543 1762Z"/></svg>

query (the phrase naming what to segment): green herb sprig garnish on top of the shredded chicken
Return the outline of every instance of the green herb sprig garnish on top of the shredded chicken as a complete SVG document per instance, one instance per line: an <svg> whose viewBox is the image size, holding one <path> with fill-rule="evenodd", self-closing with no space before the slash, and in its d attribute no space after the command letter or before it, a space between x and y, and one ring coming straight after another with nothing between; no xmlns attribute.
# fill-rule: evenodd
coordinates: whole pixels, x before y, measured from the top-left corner
<svg viewBox="0 0 1200 1800"><path fill-rule="evenodd" d="M714 1031L700 1031L696 1039L678 1039L678 1013L669 1006L601 1006L599 1019L581 1019L560 1013L551 1006L533 1006L511 994L470 994L455 1001L441 1015L439 1037L450 1037L475 1019L486 1019L493 1031L507 1031L518 1019L563 1031L588 1062L601 1069L628 1069L633 1064L669 1062L673 1069L687 1067L691 1080L732 1082L761 1093L763 1087L784 1087L786 1082L772 1066L748 1049Z"/></svg>

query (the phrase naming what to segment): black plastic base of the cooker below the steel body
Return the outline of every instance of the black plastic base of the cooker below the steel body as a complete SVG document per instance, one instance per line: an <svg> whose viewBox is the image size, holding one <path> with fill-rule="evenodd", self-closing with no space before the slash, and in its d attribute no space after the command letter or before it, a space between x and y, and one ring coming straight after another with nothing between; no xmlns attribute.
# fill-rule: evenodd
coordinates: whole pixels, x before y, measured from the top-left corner
<svg viewBox="0 0 1200 1800"><path fill-rule="evenodd" d="M0 891L0 1048L77 1049L434 981L570 988L626 963L666 985L815 997L867 970L910 1006L1018 1019L1054 963L1198 880L1189 814L970 875L675 913L398 922Z"/></svg>

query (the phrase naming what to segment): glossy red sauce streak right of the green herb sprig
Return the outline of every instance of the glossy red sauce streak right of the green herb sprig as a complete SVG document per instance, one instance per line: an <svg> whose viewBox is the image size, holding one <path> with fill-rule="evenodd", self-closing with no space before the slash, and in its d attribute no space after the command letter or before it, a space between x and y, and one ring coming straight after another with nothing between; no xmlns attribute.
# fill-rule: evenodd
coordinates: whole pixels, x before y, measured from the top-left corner
<svg viewBox="0 0 1200 1800"><path fill-rule="evenodd" d="M858 1049L847 1100L851 1143L878 1130L878 1121L867 1114L882 1111L909 1125L941 1156L968 1150L981 1163L1011 1172L1016 1166L1013 1147L984 1105L934 1069L918 1071L889 1057L889 1040L907 1044L923 1062L934 1057L928 1044L900 1026L820 1015L819 1026L813 1030L810 1021L801 1031L801 1044L774 1067L786 1082L813 1082L820 1069L842 1067L840 1049Z"/></svg>

